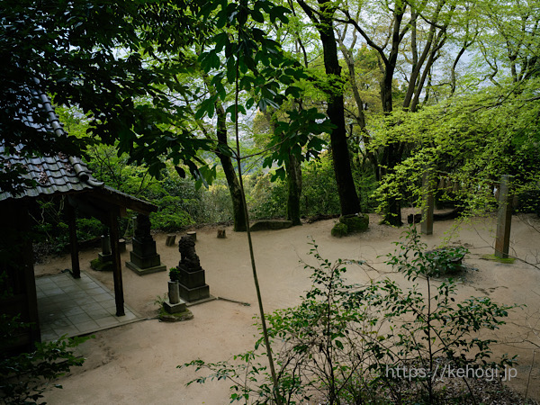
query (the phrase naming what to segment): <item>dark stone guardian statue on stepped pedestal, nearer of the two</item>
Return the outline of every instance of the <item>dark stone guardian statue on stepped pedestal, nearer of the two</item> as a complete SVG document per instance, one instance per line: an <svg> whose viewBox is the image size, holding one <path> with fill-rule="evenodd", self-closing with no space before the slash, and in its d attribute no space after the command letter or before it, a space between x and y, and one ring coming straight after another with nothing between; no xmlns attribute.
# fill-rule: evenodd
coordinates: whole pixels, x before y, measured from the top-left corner
<svg viewBox="0 0 540 405"><path fill-rule="evenodd" d="M205 282L199 257L195 253L192 237L184 236L178 241L180 262L178 263L178 288L180 297L187 302L210 298L210 287Z"/></svg>

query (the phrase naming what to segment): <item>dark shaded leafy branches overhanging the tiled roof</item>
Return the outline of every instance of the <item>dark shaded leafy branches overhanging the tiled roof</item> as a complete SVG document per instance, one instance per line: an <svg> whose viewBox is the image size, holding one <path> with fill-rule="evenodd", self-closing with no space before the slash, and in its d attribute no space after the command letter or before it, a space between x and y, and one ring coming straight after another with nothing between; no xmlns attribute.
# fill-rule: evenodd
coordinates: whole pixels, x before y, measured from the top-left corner
<svg viewBox="0 0 540 405"><path fill-rule="evenodd" d="M2 1L0 56L6 68L0 131L6 145L23 144L23 156L78 154L83 148L76 137L58 137L15 119L31 115L34 122L47 121L31 94L35 89L51 94L58 105L79 108L95 138L118 141L121 152L146 163L151 175L160 174L163 157L198 174L204 162L196 152L209 149L209 142L175 128L184 107L171 97L188 93L175 77L193 65L186 50L193 32L205 31L192 5L199 8L184 1ZM164 58L170 54L175 57Z"/></svg>

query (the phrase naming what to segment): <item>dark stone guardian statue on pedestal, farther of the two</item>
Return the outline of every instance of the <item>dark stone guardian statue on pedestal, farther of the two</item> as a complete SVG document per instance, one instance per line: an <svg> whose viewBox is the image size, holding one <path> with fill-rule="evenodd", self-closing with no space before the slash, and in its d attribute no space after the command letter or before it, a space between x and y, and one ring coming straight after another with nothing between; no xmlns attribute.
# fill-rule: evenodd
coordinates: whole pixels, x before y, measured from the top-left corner
<svg viewBox="0 0 540 405"><path fill-rule="evenodd" d="M161 264L161 259L157 255L156 241L150 235L150 227L148 215L137 215L133 251L130 252L130 261L126 262L126 266L138 275L148 275L166 270L166 266Z"/></svg>

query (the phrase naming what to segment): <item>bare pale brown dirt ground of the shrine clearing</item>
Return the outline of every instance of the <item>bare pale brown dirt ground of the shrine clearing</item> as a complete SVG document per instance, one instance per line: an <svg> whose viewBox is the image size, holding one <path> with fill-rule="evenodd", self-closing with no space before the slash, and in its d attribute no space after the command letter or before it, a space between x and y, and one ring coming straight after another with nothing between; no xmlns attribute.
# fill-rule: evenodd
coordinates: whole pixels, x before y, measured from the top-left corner
<svg viewBox="0 0 540 405"><path fill-rule="evenodd" d="M309 289L309 273L302 260L313 263L307 255L308 242L315 239L320 254L330 260L362 259L377 271L365 272L352 267L347 272L351 282L365 282L369 277L391 276L405 284L401 275L390 274L383 264L384 255L393 251L392 242L404 229L378 225L380 218L371 215L370 229L347 238L332 238L330 229L337 220L323 220L292 229L254 232L257 272L265 311L293 306ZM537 262L540 258L540 221L531 216L513 217L511 247L515 256ZM540 270L520 261L500 264L481 258L493 253L495 222L482 218L455 229L454 220L435 222L434 235L424 237L428 247L437 247L444 238L471 251L465 263L477 270L468 271L458 286L459 298L489 296L506 304L526 304L512 311L507 325L497 331L500 343L494 356L519 356L518 376L509 386L527 397L540 400ZM229 403L229 383L184 384L195 376L194 369L177 369L193 359L207 362L227 360L253 348L257 328L253 317L257 301L245 233L229 227L227 238L216 238L215 228L197 229L197 254L211 294L223 298L191 307L194 318L184 322L159 322L157 304L166 293L167 273L139 276L124 266L122 271L125 302L145 319L115 329L95 333L78 351L86 357L85 365L73 369L58 383L63 390L51 390L49 404L225 404ZM180 235L178 235L180 236ZM176 266L177 247L166 247L166 235L157 234L157 251L168 267ZM130 245L128 245L128 251ZM112 274L90 269L90 260L98 249L80 254L83 271L93 275L113 290ZM122 261L129 253L122 254ZM70 266L66 257L49 258L36 266L36 275L52 275ZM232 300L234 302L231 302ZM236 302L247 302L242 305ZM536 348L536 353L535 353ZM535 358L536 355L536 358Z"/></svg>

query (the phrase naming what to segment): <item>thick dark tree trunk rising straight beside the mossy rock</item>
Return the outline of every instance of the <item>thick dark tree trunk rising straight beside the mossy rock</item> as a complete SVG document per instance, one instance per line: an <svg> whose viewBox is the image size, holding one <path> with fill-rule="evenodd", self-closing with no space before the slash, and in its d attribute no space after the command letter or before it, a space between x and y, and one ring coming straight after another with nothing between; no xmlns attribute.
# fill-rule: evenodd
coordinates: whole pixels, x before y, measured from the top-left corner
<svg viewBox="0 0 540 405"><path fill-rule="evenodd" d="M338 45L334 35L335 8L326 0L319 0L320 20L311 7L303 0L298 0L302 9L315 23L320 34L324 55L324 67L328 76L327 90L329 120L335 128L330 133L330 148L332 148L332 163L338 184L339 204L341 214L347 215L360 211L360 201L351 171L351 161L347 147L347 130L345 127L345 106L343 101L343 83L341 67L338 59Z"/></svg>

